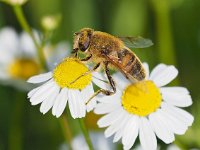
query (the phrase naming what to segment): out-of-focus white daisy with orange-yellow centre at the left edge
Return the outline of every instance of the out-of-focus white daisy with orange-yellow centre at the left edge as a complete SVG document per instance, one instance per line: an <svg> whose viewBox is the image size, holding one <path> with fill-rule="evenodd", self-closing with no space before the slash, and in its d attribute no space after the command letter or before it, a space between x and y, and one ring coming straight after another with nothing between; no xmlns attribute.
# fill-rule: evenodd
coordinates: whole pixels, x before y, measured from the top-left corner
<svg viewBox="0 0 200 150"><path fill-rule="evenodd" d="M41 66L37 61L35 46L26 33L18 35L14 29L0 30L0 81L27 90L25 82L38 74Z"/></svg>

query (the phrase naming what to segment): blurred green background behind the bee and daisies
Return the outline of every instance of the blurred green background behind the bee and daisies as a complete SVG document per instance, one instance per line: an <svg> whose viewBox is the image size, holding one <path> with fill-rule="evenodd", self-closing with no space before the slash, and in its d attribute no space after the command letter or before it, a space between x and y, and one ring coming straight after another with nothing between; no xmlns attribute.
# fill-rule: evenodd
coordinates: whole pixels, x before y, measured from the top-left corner
<svg viewBox="0 0 200 150"><path fill-rule="evenodd" d="M39 31L43 16L61 15L53 43L67 40L72 45L73 33L83 27L152 39L152 47L135 53L150 68L161 62L178 68L174 84L191 92L193 105L188 111L195 122L176 143L183 149L200 148L199 0L30 0L23 9L30 25ZM1 2L0 29L5 26L22 30L11 7ZM55 150L63 142L58 119L50 112L42 115L39 106L32 107L26 93L0 85L0 150Z"/></svg>

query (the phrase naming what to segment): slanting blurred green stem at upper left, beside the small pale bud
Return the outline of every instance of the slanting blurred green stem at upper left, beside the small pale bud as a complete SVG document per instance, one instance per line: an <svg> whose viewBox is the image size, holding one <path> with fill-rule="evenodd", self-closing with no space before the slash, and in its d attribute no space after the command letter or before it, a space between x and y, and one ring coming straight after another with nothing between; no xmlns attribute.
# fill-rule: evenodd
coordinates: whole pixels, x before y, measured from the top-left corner
<svg viewBox="0 0 200 150"><path fill-rule="evenodd" d="M30 37L32 38L33 40L33 43L37 49L37 54L38 54L38 58L39 58L39 61L41 63L41 65L46 69L47 66L46 66L46 63L45 63L45 56L44 56L44 53L43 53L43 50L42 50L42 46L40 46L40 44L37 42L34 34L33 34L33 31L31 29L31 27L29 26L27 20L26 20L26 17L24 15L24 12L22 10L22 7L20 5L13 5L13 10L15 12L15 15L21 25L21 27L30 35Z"/></svg>

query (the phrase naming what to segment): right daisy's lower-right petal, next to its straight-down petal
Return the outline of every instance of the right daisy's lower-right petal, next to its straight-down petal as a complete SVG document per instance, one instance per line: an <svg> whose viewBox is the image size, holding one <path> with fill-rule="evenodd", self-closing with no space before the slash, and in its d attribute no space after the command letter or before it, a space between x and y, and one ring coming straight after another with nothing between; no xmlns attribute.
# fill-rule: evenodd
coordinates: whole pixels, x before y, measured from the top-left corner
<svg viewBox="0 0 200 150"><path fill-rule="evenodd" d="M150 124L156 135L166 144L175 140L174 134L169 130L168 126L161 119L162 116L157 111L149 116Z"/></svg>

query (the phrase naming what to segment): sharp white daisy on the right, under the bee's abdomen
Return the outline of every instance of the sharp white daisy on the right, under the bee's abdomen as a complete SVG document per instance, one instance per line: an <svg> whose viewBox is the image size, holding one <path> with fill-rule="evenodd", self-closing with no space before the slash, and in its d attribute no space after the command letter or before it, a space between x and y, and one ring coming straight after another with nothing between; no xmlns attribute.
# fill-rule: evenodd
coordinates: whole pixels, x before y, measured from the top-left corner
<svg viewBox="0 0 200 150"><path fill-rule="evenodd" d="M137 137L144 150L156 150L156 136L166 144L183 135L193 123L193 116L181 109L192 104L184 87L164 87L178 74L174 66L159 64L149 75L144 64L146 80L130 83L120 73L113 77L117 92L99 99L96 114L105 114L98 126L108 127L105 136L114 135L113 142L122 139L124 149L130 149Z"/></svg>

